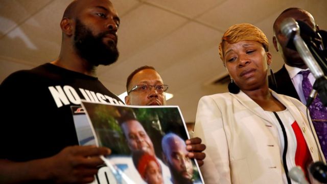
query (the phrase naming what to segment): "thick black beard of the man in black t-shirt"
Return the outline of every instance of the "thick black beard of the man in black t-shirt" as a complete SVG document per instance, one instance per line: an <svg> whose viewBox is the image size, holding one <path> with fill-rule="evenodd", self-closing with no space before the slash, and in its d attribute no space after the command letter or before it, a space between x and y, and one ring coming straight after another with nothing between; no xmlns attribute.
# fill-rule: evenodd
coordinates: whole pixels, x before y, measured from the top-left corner
<svg viewBox="0 0 327 184"><path fill-rule="evenodd" d="M109 40L107 44L103 42L104 36L110 33L115 34L108 30L93 35L90 29L76 19L74 48L77 54L94 66L114 63L119 57L116 43L113 40Z"/></svg>

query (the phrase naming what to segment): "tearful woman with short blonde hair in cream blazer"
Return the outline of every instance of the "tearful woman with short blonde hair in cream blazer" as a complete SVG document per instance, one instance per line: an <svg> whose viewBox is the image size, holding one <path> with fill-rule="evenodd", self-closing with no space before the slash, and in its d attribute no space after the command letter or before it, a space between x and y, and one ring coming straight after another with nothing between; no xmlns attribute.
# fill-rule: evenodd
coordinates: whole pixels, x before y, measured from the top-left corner
<svg viewBox="0 0 327 184"><path fill-rule="evenodd" d="M207 146L205 183L291 183L291 168L308 177L308 165L324 159L306 107L268 88L268 47L266 35L250 24L233 25L222 37L229 93L202 97L194 128Z"/></svg>

